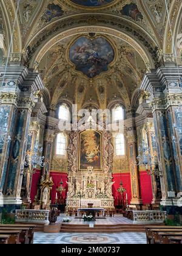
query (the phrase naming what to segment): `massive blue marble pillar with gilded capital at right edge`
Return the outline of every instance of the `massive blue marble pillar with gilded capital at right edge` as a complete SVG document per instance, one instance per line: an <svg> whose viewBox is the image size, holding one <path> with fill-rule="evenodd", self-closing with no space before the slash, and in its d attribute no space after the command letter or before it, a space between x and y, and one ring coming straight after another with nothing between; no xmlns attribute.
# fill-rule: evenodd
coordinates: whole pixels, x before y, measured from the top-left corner
<svg viewBox="0 0 182 256"><path fill-rule="evenodd" d="M175 191L174 205L178 205L182 193L181 143L175 130L176 108L182 104L182 91L179 73L182 68L169 65L146 74L141 89L150 92L148 103L152 108L155 138L157 141L158 163L161 171L161 205L170 207L172 200L168 191ZM175 136L176 141L173 140ZM182 208L182 207L181 207ZM182 209L181 209L182 213Z"/></svg>

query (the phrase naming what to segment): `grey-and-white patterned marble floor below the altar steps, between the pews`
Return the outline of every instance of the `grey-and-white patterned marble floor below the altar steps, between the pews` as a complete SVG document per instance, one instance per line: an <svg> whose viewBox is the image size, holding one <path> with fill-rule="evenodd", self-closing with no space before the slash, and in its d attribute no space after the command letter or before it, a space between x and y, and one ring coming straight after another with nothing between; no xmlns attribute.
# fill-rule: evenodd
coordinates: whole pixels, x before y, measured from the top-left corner
<svg viewBox="0 0 182 256"><path fill-rule="evenodd" d="M145 233L35 233L35 244L146 244Z"/></svg>

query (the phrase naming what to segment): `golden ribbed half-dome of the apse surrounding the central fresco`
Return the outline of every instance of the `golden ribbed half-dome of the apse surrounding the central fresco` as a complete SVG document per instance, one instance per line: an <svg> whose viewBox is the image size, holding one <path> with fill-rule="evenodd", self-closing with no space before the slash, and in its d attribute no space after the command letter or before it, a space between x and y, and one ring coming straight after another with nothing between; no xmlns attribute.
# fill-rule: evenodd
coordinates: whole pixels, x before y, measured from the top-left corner
<svg viewBox="0 0 182 256"><path fill-rule="evenodd" d="M96 48L100 40L104 44ZM70 48L67 49L67 46ZM72 59L76 59L78 66L70 61ZM103 65L108 62L112 63L103 72ZM83 69L84 65L86 69ZM90 77L92 73L89 73L89 69L93 65L98 66L94 76ZM146 66L138 52L124 41L100 34L95 37L84 34L79 38L72 36L61 40L49 49L39 63L39 72L53 105L59 99L68 99L80 108L87 102L105 109L110 101L118 100L130 106L133 91L139 87Z"/></svg>

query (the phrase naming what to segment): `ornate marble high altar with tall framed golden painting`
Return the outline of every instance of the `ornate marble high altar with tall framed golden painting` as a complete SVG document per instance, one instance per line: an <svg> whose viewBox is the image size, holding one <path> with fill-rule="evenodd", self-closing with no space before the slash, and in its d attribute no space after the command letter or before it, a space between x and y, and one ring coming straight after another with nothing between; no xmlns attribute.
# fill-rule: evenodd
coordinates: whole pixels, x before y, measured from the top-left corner
<svg viewBox="0 0 182 256"><path fill-rule="evenodd" d="M93 127L95 126L95 129ZM112 136L98 126L85 124L79 132L70 133L67 149L69 191L67 210L80 207L114 208L112 195Z"/></svg>

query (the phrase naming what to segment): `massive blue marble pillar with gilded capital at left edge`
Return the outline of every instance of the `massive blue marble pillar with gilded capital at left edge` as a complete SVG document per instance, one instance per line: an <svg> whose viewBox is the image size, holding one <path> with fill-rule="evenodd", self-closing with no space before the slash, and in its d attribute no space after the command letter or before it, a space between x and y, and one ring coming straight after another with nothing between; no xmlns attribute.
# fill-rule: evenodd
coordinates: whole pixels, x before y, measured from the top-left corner
<svg viewBox="0 0 182 256"><path fill-rule="evenodd" d="M0 71L4 74L4 67ZM5 141L1 154L1 203L14 211L22 203L21 185L24 169L30 117L35 105L33 92L42 90L44 85L37 73L23 66L8 66L4 79L1 78L1 110L8 112L5 121L11 141ZM10 100L12 98L12 100Z"/></svg>

